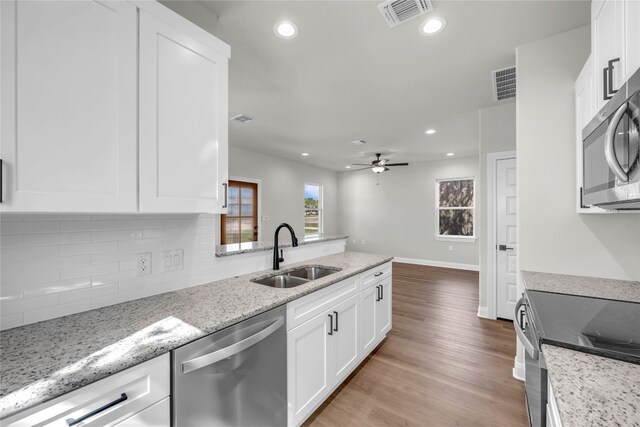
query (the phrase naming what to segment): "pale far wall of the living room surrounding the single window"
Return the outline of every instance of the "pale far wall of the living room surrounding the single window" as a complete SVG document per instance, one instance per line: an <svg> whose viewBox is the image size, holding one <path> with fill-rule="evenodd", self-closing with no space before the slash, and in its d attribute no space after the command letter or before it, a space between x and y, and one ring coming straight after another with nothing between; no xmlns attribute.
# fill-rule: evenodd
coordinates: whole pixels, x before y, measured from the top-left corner
<svg viewBox="0 0 640 427"><path fill-rule="evenodd" d="M477 267L477 241L434 239L436 179L477 175L477 157L413 162L380 175L380 185L368 170L340 172L338 215L341 233L351 236L348 250Z"/></svg>

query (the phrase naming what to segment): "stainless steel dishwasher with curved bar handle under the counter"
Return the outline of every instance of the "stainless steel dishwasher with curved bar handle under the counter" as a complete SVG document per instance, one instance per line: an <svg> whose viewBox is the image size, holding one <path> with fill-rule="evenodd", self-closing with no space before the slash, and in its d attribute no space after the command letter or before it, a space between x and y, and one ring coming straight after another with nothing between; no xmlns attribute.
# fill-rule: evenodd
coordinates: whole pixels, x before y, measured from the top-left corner
<svg viewBox="0 0 640 427"><path fill-rule="evenodd" d="M173 426L287 425L286 307L173 351Z"/></svg>

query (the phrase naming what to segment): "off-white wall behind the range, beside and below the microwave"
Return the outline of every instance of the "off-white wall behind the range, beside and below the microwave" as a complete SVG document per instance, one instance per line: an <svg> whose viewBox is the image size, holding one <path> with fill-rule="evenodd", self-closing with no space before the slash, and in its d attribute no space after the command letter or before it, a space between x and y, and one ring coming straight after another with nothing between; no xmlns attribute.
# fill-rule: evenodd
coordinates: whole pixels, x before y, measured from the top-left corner
<svg viewBox="0 0 640 427"><path fill-rule="evenodd" d="M518 270L640 280L640 215L576 213L574 83L589 51L589 27L516 49Z"/></svg>

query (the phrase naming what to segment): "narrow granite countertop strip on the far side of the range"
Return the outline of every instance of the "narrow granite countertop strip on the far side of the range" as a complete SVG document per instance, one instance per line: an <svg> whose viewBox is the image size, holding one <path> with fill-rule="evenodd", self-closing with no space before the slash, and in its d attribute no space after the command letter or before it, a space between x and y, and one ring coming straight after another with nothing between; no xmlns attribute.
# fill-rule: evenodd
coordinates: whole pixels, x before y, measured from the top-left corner
<svg viewBox="0 0 640 427"><path fill-rule="evenodd" d="M521 271L524 287L530 291L640 302L640 282L566 274Z"/></svg>

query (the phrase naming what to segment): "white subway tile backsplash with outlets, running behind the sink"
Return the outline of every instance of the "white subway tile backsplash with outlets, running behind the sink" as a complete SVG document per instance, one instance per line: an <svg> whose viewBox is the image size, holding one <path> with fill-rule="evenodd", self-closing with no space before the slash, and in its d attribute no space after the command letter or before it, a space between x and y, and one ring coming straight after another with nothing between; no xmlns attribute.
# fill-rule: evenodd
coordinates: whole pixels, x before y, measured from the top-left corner
<svg viewBox="0 0 640 427"><path fill-rule="evenodd" d="M271 268L270 251L216 258L216 230L213 215L2 214L0 329ZM171 249L184 250L184 268L164 273ZM285 248L285 265L343 250ZM152 274L136 277L141 252Z"/></svg>

